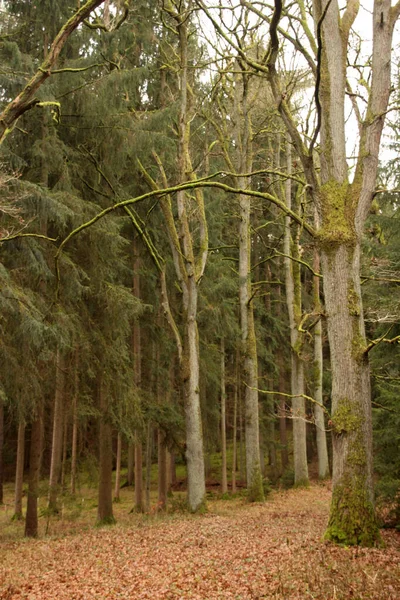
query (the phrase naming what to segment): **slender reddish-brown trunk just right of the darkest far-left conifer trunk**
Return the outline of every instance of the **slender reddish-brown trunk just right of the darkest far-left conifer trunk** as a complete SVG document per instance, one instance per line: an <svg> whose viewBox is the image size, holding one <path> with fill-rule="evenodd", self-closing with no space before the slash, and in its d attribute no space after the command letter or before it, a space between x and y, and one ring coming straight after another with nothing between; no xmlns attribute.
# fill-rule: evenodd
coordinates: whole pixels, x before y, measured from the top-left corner
<svg viewBox="0 0 400 600"><path fill-rule="evenodd" d="M51 465L49 481L49 510L58 512L57 496L61 470L63 442L65 393L65 360L61 350L57 350L56 358L56 391L54 397L53 441L51 446Z"/></svg>

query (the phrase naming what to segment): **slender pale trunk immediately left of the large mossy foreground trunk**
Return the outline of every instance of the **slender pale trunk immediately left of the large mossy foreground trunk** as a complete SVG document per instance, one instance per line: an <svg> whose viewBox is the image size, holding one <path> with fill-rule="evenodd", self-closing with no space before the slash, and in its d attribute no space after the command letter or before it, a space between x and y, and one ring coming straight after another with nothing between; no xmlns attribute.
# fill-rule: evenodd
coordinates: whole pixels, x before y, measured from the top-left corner
<svg viewBox="0 0 400 600"><path fill-rule="evenodd" d="M320 260L317 248L314 250L314 272L319 273ZM314 309L321 312L321 301L319 291L319 277L314 276ZM326 429L322 393L323 355L322 355L322 320L321 317L314 328L314 398L319 404L314 404L315 427L317 430L317 454L318 454L318 477L326 479L329 477L328 445L326 442Z"/></svg>

